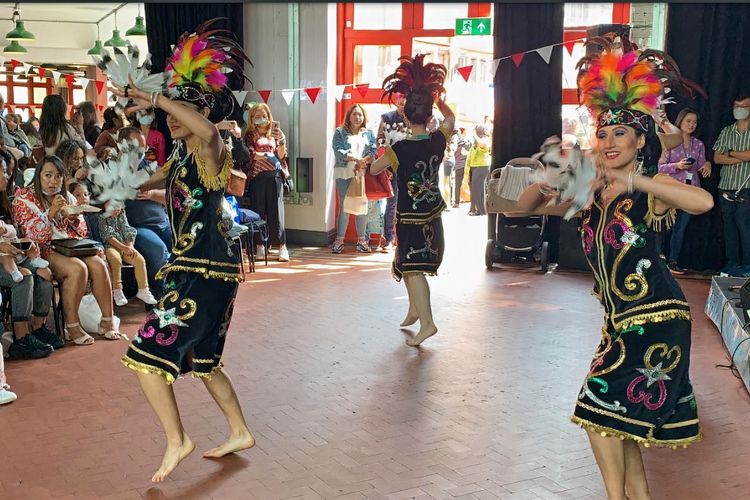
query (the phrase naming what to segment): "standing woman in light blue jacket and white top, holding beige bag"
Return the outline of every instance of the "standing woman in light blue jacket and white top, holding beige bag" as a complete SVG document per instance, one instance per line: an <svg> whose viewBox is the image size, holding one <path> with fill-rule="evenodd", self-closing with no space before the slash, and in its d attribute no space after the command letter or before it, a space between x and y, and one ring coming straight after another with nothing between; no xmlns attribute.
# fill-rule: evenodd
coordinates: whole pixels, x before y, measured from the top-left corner
<svg viewBox="0 0 750 500"><path fill-rule="evenodd" d="M344 237L349 226L349 214L344 212L344 198L349 185L355 175L364 173L375 156L375 134L367 128L366 123L367 113L362 106L355 104L346 112L344 123L333 133L333 154L336 157L333 177L336 179L336 193L339 199L336 239L331 247L333 253L341 253L344 250ZM368 203L368 210L369 208ZM367 219L368 214L354 216L358 252L370 251Z"/></svg>

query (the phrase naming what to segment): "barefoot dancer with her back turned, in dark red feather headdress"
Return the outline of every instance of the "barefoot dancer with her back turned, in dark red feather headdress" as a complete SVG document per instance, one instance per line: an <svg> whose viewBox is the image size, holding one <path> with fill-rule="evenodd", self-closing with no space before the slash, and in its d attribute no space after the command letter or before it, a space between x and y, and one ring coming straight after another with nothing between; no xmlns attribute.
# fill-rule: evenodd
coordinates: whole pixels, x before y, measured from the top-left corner
<svg viewBox="0 0 750 500"><path fill-rule="evenodd" d="M443 260L445 241L440 214L445 200L440 195L440 164L447 140L453 133L455 116L443 97L437 105L445 119L435 132L427 133L435 96L445 89L446 69L442 64L424 64L424 55L402 57L396 72L383 82L384 96L406 95L404 115L412 135L385 149L370 167L374 175L388 166L396 172L396 238L398 247L393 261L396 280L404 278L409 295L409 311L401 326L419 320L419 332L408 345L417 347L437 333L430 306L430 287L425 274L436 275Z"/></svg>

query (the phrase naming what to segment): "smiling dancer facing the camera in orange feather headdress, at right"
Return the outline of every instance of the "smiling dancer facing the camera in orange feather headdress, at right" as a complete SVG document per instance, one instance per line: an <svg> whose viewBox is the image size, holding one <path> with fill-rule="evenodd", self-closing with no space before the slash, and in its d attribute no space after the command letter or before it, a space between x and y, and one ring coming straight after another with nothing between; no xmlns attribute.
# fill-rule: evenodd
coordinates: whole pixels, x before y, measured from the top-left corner
<svg viewBox="0 0 750 500"><path fill-rule="evenodd" d="M614 500L650 498L639 443L674 448L701 438L688 375L690 308L660 256L658 231L674 221L675 209L700 214L713 201L702 189L654 175L661 144L649 114L662 76L658 65L628 52L583 61L578 78L581 103L595 118L600 165L581 237L605 315L572 421L588 432ZM519 208L545 210L547 189L530 186ZM568 206L552 211L564 214Z"/></svg>

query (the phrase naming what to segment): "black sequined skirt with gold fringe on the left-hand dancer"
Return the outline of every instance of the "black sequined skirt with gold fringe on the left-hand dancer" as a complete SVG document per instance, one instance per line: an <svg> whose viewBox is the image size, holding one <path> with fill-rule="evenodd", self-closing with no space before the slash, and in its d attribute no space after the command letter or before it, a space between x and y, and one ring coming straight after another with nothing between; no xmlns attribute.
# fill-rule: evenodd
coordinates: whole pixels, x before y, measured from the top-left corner
<svg viewBox="0 0 750 500"><path fill-rule="evenodd" d="M164 296L130 343L122 362L171 384L193 372L210 378L221 366L239 284L185 271L167 274Z"/></svg>

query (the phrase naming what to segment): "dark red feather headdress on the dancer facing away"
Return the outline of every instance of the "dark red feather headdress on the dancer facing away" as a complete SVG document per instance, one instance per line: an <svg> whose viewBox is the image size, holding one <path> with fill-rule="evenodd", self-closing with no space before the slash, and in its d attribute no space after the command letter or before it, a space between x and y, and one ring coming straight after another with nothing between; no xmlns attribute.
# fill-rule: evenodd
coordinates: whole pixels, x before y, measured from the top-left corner
<svg viewBox="0 0 750 500"><path fill-rule="evenodd" d="M434 97L444 92L443 84L448 70L442 64L425 64L424 57L424 54L401 56L401 64L396 71L383 80L383 95L380 100L387 97L392 103L394 94L409 95L418 88L429 91Z"/></svg>

